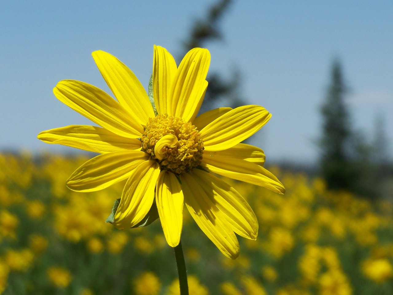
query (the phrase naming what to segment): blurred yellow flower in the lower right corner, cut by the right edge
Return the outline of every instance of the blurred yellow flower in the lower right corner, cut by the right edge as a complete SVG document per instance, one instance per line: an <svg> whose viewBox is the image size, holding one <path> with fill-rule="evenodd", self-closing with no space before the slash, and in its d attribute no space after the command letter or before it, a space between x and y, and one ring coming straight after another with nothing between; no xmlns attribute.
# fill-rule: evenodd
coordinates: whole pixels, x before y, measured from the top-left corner
<svg viewBox="0 0 393 295"><path fill-rule="evenodd" d="M386 258L369 259L363 263L363 273L371 280L382 283L391 279L393 268Z"/></svg>

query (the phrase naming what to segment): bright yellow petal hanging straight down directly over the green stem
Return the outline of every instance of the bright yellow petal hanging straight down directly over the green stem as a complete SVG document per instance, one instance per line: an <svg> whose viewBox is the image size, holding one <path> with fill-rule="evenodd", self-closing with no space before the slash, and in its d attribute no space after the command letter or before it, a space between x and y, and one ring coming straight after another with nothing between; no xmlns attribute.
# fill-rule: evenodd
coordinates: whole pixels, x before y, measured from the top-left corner
<svg viewBox="0 0 393 295"><path fill-rule="evenodd" d="M180 242L183 227L184 198L182 187L173 173L165 170L160 172L156 204L165 239L169 246L176 247Z"/></svg>

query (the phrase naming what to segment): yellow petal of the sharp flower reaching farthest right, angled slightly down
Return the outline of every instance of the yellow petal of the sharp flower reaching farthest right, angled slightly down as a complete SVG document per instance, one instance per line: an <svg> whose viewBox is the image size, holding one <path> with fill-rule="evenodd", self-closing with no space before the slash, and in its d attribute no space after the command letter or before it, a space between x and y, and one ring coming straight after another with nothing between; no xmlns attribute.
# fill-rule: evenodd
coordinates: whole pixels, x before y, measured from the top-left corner
<svg viewBox="0 0 393 295"><path fill-rule="evenodd" d="M204 157L201 166L205 169L244 182L266 187L283 194L283 184L263 167L236 158Z"/></svg>

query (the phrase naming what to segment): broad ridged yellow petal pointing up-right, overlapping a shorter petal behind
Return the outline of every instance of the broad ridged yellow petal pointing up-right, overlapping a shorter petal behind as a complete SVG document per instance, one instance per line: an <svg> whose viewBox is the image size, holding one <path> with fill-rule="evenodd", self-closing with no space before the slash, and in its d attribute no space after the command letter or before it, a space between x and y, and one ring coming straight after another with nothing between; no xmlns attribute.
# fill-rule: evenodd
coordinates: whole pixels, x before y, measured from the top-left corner
<svg viewBox="0 0 393 295"><path fill-rule="evenodd" d="M226 150L252 136L269 121L262 106L239 106L200 130L205 151Z"/></svg>

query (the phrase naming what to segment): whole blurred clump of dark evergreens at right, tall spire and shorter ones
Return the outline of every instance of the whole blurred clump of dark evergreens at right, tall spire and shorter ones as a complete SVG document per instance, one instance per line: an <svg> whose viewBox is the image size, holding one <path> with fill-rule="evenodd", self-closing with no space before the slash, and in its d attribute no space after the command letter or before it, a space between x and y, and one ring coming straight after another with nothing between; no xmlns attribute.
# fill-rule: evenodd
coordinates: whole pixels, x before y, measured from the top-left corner
<svg viewBox="0 0 393 295"><path fill-rule="evenodd" d="M376 116L373 136L354 130L345 103L349 89L342 66L332 63L325 103L320 148L320 173L328 189L347 190L370 199L389 197L393 191L393 162L389 157L384 118ZM391 196L390 196L391 197Z"/></svg>

